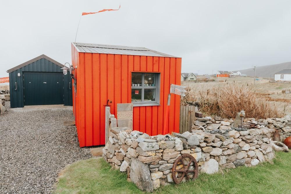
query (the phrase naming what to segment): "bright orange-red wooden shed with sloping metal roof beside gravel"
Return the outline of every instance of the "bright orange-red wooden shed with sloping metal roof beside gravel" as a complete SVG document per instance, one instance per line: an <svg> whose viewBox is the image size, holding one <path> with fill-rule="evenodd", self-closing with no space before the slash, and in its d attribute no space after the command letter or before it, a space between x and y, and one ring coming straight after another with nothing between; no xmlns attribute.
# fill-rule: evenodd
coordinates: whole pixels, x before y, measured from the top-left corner
<svg viewBox="0 0 291 194"><path fill-rule="evenodd" d="M105 144L105 105L133 103L133 130L149 135L179 132L180 96L171 96L168 129L164 113L171 84L181 83L181 58L143 47L72 43L77 92L73 110L80 147Z"/></svg>

